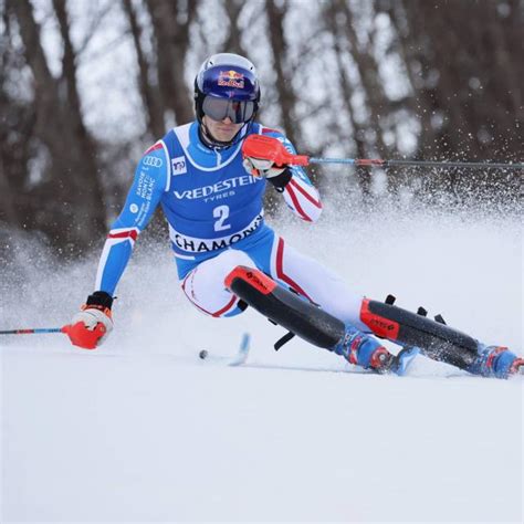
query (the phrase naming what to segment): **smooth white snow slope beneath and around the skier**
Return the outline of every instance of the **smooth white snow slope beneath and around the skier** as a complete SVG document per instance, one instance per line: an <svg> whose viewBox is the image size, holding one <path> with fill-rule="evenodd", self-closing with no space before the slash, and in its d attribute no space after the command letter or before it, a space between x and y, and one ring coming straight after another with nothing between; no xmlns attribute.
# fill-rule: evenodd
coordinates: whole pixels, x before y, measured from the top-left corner
<svg viewBox="0 0 524 524"><path fill-rule="evenodd" d="M517 218L339 214L279 229L357 291L521 352ZM423 357L374 376L296 338L275 353L280 327L202 316L168 248L137 251L101 349L0 340L2 522L522 522L521 379ZM1 328L65 323L95 264L33 255L3 275ZM198 359L248 331L244 367Z"/></svg>

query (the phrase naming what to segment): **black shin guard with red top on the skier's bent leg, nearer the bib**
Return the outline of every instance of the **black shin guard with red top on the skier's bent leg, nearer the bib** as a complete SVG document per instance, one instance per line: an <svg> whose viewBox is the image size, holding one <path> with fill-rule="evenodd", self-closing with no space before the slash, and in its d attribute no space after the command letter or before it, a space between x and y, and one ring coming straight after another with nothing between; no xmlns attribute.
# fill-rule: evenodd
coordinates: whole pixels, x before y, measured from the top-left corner
<svg viewBox="0 0 524 524"><path fill-rule="evenodd" d="M226 286L266 318L308 343L332 349L344 336L344 323L282 287L259 270L237 266Z"/></svg>

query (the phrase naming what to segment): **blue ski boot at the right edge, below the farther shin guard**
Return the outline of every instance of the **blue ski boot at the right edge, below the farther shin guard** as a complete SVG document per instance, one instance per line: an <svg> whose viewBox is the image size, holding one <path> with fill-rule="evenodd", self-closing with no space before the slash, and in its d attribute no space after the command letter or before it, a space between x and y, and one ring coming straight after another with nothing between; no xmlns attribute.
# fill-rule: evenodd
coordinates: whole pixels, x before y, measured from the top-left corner
<svg viewBox="0 0 524 524"><path fill-rule="evenodd" d="M524 375L524 358L517 357L507 347L479 344L478 353L476 359L467 368L473 375L495 378Z"/></svg>

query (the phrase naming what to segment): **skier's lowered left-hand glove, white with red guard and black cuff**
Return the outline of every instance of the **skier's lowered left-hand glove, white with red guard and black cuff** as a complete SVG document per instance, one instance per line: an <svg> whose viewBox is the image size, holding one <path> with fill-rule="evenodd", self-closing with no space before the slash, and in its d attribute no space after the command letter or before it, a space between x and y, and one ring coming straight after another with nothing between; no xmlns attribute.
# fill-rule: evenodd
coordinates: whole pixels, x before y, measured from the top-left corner
<svg viewBox="0 0 524 524"><path fill-rule="evenodd" d="M95 349L106 340L113 331L112 304L113 297L102 291L87 297L82 311L73 316L70 325L64 326L64 332L74 346Z"/></svg>

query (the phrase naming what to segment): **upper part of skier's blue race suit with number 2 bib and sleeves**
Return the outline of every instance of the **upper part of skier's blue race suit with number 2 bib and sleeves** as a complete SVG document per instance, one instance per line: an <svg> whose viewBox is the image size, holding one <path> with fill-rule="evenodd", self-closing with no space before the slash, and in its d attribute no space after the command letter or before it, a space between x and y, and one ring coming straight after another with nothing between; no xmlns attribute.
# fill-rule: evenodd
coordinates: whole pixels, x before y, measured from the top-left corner
<svg viewBox="0 0 524 524"><path fill-rule="evenodd" d="M138 234L158 205L169 226L179 279L199 263L228 249L271 237L263 218L264 178L242 166L241 146L249 134L264 134L295 149L277 130L253 124L242 139L212 149L199 136L198 123L175 127L140 159L124 208L113 223L98 264L96 290L114 294ZM322 210L318 193L301 167L291 167L286 205L303 220L315 221Z"/></svg>

